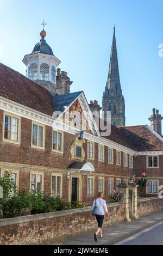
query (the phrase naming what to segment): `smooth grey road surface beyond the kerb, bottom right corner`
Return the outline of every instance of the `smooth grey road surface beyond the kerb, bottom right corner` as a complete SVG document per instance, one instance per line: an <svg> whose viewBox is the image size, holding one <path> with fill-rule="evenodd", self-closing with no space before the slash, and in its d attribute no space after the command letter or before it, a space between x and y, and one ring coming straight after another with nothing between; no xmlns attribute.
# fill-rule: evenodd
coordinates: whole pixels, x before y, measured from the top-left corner
<svg viewBox="0 0 163 256"><path fill-rule="evenodd" d="M118 242L116 245L163 245L163 222Z"/></svg>

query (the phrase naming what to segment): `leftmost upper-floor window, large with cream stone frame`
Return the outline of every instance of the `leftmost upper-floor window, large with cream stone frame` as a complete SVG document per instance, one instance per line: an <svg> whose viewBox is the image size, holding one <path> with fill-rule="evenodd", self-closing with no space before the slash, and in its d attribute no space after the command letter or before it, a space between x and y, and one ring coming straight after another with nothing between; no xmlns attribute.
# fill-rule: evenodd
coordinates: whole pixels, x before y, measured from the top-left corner
<svg viewBox="0 0 163 256"><path fill-rule="evenodd" d="M3 141L20 144L21 117L4 112Z"/></svg>

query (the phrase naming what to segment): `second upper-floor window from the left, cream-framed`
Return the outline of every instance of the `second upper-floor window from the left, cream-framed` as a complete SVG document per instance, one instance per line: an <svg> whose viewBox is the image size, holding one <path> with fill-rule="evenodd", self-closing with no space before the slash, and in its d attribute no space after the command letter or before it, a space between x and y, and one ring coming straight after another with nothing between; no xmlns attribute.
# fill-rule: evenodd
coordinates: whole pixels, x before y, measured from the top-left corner
<svg viewBox="0 0 163 256"><path fill-rule="evenodd" d="M32 147L45 149L45 125L32 122Z"/></svg>

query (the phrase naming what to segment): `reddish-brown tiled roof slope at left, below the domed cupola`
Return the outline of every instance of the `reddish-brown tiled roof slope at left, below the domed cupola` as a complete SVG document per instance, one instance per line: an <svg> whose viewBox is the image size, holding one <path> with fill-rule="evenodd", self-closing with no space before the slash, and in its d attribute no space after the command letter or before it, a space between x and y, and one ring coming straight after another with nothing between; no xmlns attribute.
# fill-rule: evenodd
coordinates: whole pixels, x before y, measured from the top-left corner
<svg viewBox="0 0 163 256"><path fill-rule="evenodd" d="M52 95L47 89L2 63L0 63L0 95L47 115L52 116L54 112Z"/></svg>

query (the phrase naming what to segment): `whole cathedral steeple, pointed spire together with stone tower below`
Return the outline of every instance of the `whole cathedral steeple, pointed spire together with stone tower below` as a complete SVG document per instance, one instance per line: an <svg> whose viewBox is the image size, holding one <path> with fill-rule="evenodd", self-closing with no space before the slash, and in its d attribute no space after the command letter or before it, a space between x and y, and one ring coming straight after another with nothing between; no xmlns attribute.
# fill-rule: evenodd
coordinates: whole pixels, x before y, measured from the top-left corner
<svg viewBox="0 0 163 256"><path fill-rule="evenodd" d="M122 95L120 74L118 69L115 27L111 45L108 80L103 93L102 107L104 119L106 119L106 112L110 111L112 125L125 125L125 103Z"/></svg>

